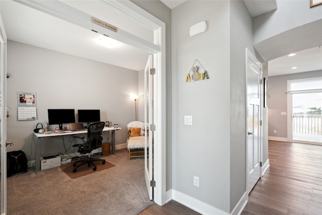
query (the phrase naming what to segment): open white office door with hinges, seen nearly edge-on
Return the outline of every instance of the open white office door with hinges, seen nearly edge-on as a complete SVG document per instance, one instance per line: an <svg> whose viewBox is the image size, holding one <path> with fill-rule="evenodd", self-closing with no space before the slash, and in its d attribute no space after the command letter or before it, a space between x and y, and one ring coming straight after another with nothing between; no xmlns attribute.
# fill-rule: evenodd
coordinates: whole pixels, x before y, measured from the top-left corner
<svg viewBox="0 0 322 215"><path fill-rule="evenodd" d="M144 176L149 199L153 199L153 75L150 69L153 67L153 56L149 55L144 69L144 125L145 125L145 153L144 153ZM148 134L148 135L146 135ZM151 184L152 181L152 184Z"/></svg>

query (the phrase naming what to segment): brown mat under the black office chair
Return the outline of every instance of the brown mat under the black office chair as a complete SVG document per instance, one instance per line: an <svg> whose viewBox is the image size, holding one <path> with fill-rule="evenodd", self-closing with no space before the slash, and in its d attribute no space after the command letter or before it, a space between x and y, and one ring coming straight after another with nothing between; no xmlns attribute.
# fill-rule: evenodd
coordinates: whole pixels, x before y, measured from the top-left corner
<svg viewBox="0 0 322 215"><path fill-rule="evenodd" d="M102 170L109 169L111 167L115 167L114 164L111 164L110 162L105 162L105 164L102 164L100 161L94 162L97 166L96 171L93 170L93 166L91 165L90 167L87 164L84 164L80 167L77 168L77 171L74 173L72 172L74 167L72 166L72 163L66 164L64 166L60 166L59 168L66 173L66 175L69 176L69 178L78 178L82 177L88 174L96 173Z"/></svg>

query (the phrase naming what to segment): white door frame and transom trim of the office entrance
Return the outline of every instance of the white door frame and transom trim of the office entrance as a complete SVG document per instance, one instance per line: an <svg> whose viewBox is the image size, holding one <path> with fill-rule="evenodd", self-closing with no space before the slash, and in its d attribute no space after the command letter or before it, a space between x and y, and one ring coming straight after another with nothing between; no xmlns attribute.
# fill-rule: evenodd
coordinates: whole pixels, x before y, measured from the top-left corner
<svg viewBox="0 0 322 215"><path fill-rule="evenodd" d="M54 5L51 5L51 2L41 0L17 2L85 28L88 28L89 23L91 23L91 21L81 18L75 22L75 16L68 17L68 14L72 11L68 10L67 13L63 13L64 8L59 2L54 3ZM154 32L153 43L125 31L118 33L108 31L108 34L111 38L153 54L154 79L156 79L156 86L154 86L156 92L153 101L156 116L154 118L154 180L156 184L154 187L154 202L163 205L166 203L166 24L129 0L102 0L102 2L119 13L137 19ZM54 10L57 7L60 8ZM107 29L102 28L101 30L104 33Z"/></svg>

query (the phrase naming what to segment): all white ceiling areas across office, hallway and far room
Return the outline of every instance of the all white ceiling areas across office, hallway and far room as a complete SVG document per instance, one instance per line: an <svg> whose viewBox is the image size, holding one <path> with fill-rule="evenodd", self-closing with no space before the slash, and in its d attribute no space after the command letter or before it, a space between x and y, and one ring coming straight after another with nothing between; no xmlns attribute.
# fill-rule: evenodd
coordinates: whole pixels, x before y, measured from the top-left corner
<svg viewBox="0 0 322 215"><path fill-rule="evenodd" d="M161 0L170 9L177 7L185 1ZM87 14L94 14L102 20L108 20L112 25L126 30L133 35L144 37L147 41L153 40L153 33L146 26L142 26L135 20L129 20L128 17L122 17L121 14L112 14L106 6L93 6L93 1L66 1L70 6L77 6ZM254 7L249 4L249 0L244 1L252 17L275 10L275 1L259 1L261 4ZM251 1L254 2L254 1ZM77 5L72 5L76 4ZM272 4L275 3L275 4ZM14 40L54 51L71 54L87 59L97 60L133 70L144 69L148 53L138 48L119 42L119 46L108 49L99 44L99 38L102 35L84 29L82 27L70 24L61 19L36 11L22 4L13 1L0 1L1 14L4 21L7 37ZM248 6L249 5L249 6ZM251 6L250 6L251 5ZM109 11L106 13L106 11ZM100 15L98 15L100 14ZM44 27L45 26L45 27ZM103 36L104 37L104 36ZM271 52L274 50L271 50ZM322 51L319 47L298 51L293 57L282 56L276 59L270 59L269 76L278 76L291 73L300 73L303 71L322 70ZM297 69L291 69L296 66Z"/></svg>

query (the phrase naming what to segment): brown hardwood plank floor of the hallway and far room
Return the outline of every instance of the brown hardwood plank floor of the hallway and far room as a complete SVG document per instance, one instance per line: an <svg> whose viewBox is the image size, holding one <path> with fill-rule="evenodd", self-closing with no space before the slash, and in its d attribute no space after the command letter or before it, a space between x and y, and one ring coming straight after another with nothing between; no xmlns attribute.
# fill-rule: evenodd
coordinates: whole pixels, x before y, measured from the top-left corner
<svg viewBox="0 0 322 215"><path fill-rule="evenodd" d="M249 195L246 214L322 214L322 146L269 141L270 167ZM174 200L140 215L200 214Z"/></svg>

